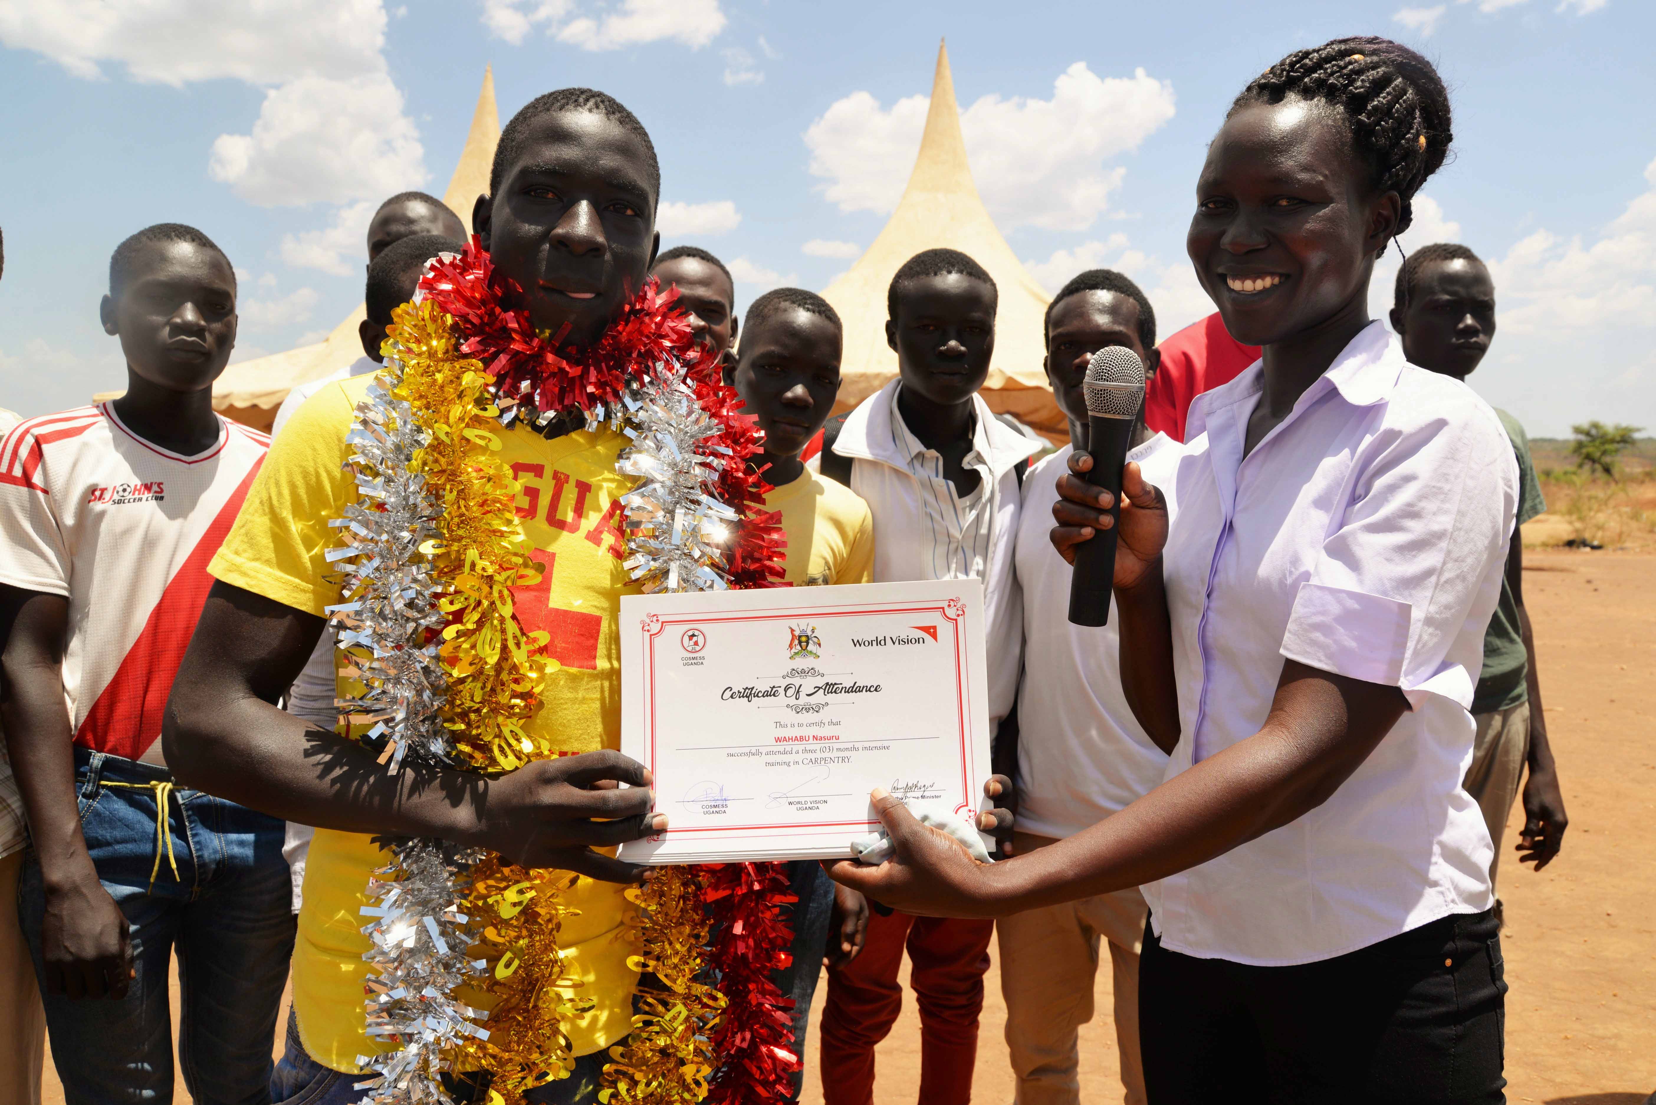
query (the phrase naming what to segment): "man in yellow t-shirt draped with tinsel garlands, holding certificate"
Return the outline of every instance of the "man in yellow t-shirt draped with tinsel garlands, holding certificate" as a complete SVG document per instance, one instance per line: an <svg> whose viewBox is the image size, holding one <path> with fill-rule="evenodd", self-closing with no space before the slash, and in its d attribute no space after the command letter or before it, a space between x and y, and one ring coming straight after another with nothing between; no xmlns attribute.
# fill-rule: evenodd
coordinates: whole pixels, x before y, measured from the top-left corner
<svg viewBox="0 0 1656 1105"><path fill-rule="evenodd" d="M661 172L649 136L619 103L591 89L550 93L502 131L489 195L472 227L497 272L522 290L542 333L590 350L643 287L656 255ZM623 886L638 868L598 852L666 823L651 782L619 747L621 595L636 593L623 560L616 474L628 439L608 427L548 439L522 422L498 431L518 479L517 512L546 572L518 588L517 613L550 635L560 661L528 722L571 755L507 775L404 765L396 774L361 746L275 707L339 601L326 553L331 519L356 487L341 462L353 409L373 376L330 384L288 422L210 565L217 577L176 683L167 757L185 785L316 825L293 953L293 1016L272 1083L278 1102L358 1102L359 1055L388 1050L364 1035L368 938L358 914L376 835L440 837L522 866L581 875L566 903L565 966L593 1009L566 1024L571 1077L532 1102L596 1100L604 1049L631 1029L636 948L624 939ZM553 424L558 424L555 419ZM618 782L636 789L618 790Z"/></svg>

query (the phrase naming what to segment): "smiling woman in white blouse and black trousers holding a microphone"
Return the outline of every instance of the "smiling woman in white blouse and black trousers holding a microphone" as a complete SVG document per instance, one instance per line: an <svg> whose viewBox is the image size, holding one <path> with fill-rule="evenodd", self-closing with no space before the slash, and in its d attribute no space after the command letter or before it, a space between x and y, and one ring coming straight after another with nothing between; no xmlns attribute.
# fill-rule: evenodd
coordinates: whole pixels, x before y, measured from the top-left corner
<svg viewBox="0 0 1656 1105"><path fill-rule="evenodd" d="M1368 316L1449 141L1432 66L1346 38L1267 70L1209 147L1191 260L1264 359L1192 406L1176 517L1124 477L1121 679L1166 782L994 866L876 792L896 858L833 870L946 916L1143 885L1153 1105L1504 1100L1492 847L1461 777L1517 472L1494 411ZM1068 557L1108 497L1060 492Z"/></svg>

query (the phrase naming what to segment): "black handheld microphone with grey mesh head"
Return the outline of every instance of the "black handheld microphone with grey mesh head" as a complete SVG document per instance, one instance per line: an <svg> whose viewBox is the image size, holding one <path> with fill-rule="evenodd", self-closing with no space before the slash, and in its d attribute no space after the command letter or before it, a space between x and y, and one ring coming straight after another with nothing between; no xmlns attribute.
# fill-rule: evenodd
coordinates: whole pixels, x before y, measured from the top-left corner
<svg viewBox="0 0 1656 1105"><path fill-rule="evenodd" d="M1116 532L1121 525L1121 469L1126 466L1133 424L1144 403L1144 361L1119 345L1093 355L1081 383L1086 394L1086 452L1093 469L1086 482L1113 497L1108 530L1095 527L1093 540L1075 547L1070 577L1070 621L1101 626L1110 621L1110 595L1116 577Z"/></svg>

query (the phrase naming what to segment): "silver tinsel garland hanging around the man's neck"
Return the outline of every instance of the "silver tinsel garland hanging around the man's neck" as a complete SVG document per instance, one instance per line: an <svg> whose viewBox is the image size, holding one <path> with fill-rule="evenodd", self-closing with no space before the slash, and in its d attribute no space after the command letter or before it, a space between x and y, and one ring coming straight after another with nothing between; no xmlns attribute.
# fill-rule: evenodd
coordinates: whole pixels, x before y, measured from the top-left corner
<svg viewBox="0 0 1656 1105"><path fill-rule="evenodd" d="M346 441L354 449L348 467L359 502L331 522L344 545L328 553L344 575L346 595L328 613L339 626L348 668L359 664L366 686L341 706L374 722L366 737L384 741L381 762L391 772L406 759L450 764L454 747L439 712L445 676L437 646L419 644L429 630L444 626L427 552L429 542L440 540L440 510L422 477L411 472L429 432L392 394L401 371L399 361L388 359L358 406ZM720 426L700 408L686 374L684 364L659 364L609 411L586 413L590 431L608 424L633 442L616 470L641 480L623 504L626 568L646 591L729 586L724 548L740 515L710 494L717 467L697 446ZM502 422L510 426L515 414L508 411ZM546 421L546 414L537 419ZM397 1049L358 1057L369 1072L356 1083L368 1090L363 1105L454 1105L440 1078L450 1072L445 1055L465 1035L489 1035L479 1024L487 1014L454 997L457 986L487 972L485 961L465 958L474 919L459 910L479 858L440 840L401 842L369 881L373 905L361 910L373 918L363 928L373 943L363 954L371 967L368 1035Z"/></svg>

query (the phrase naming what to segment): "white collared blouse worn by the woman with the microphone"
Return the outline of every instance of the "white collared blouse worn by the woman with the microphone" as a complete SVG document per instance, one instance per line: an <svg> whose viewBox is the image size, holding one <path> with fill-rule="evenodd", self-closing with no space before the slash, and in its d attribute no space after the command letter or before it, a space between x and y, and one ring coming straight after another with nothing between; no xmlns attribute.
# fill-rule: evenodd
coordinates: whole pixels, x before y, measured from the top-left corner
<svg viewBox="0 0 1656 1105"><path fill-rule="evenodd" d="M1191 408L1163 558L1167 777L1259 732L1285 658L1396 686L1411 709L1320 807L1144 896L1174 951L1285 966L1492 905L1461 779L1517 464L1489 404L1408 364L1378 321L1244 459L1262 388L1255 363Z"/></svg>

